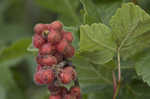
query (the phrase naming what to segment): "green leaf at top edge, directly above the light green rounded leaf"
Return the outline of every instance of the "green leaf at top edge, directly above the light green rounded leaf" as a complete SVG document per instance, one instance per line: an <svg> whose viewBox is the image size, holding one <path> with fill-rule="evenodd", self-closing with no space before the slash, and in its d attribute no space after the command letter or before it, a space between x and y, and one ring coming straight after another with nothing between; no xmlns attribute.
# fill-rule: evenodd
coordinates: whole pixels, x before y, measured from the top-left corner
<svg viewBox="0 0 150 99"><path fill-rule="evenodd" d="M101 16L98 9L91 0L80 0L84 7L84 24L101 22Z"/></svg>

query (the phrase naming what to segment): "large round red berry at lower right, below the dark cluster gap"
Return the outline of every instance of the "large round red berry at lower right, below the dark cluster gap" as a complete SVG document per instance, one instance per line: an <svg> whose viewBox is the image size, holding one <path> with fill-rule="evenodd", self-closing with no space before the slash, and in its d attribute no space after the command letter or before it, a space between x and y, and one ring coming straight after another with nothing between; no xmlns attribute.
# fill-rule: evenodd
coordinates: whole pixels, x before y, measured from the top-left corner
<svg viewBox="0 0 150 99"><path fill-rule="evenodd" d="M76 72L72 67L65 67L60 73L60 80L64 84L70 83L76 78Z"/></svg>

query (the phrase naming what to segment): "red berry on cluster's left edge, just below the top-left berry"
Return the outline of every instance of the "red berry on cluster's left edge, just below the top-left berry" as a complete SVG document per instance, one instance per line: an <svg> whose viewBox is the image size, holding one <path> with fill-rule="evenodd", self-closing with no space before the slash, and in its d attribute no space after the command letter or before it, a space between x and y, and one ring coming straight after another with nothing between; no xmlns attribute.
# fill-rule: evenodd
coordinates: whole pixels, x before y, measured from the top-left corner
<svg viewBox="0 0 150 99"><path fill-rule="evenodd" d="M45 43L45 40L42 36L35 34L33 37L33 45L35 48L40 48Z"/></svg>

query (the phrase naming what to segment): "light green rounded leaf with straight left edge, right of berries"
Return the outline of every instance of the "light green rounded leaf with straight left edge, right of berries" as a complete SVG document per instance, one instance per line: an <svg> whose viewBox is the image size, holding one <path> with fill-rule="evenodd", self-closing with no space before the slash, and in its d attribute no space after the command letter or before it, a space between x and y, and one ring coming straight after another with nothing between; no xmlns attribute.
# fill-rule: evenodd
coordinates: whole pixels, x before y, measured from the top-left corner
<svg viewBox="0 0 150 99"><path fill-rule="evenodd" d="M114 51L115 43L107 26L95 23L80 27L79 55L96 64L104 64L112 59Z"/></svg>

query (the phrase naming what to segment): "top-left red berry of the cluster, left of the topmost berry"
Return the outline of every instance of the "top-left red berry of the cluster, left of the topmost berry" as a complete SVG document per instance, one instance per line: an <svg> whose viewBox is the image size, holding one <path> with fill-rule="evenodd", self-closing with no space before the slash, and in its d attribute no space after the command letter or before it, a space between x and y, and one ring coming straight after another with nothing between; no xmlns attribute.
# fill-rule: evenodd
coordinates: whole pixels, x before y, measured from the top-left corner
<svg viewBox="0 0 150 99"><path fill-rule="evenodd" d="M36 24L34 27L34 32L37 34L41 34L43 31L47 30L48 27L46 24Z"/></svg>

